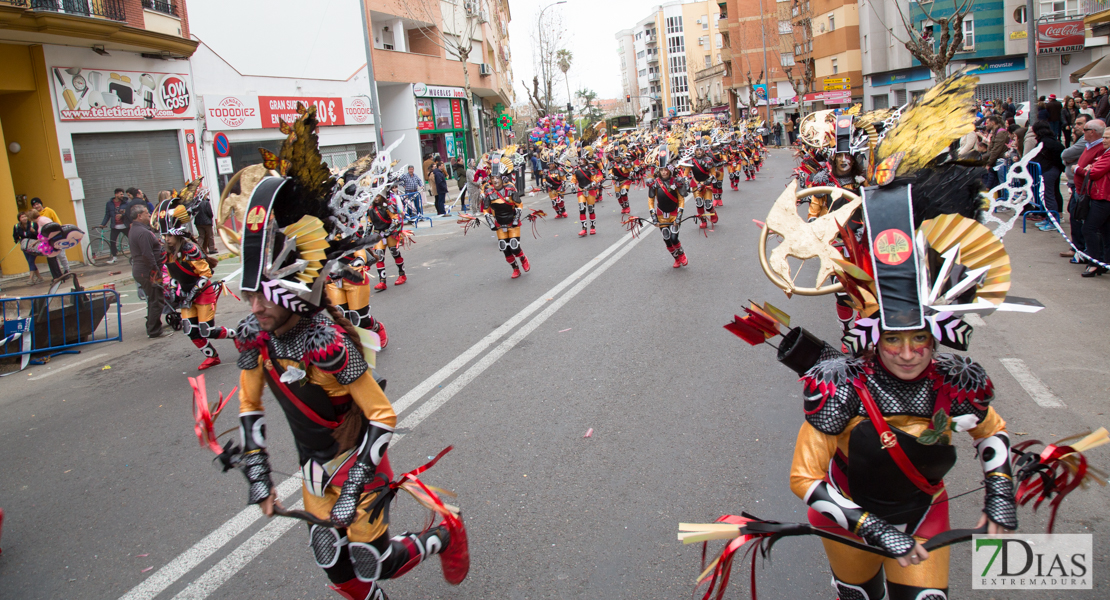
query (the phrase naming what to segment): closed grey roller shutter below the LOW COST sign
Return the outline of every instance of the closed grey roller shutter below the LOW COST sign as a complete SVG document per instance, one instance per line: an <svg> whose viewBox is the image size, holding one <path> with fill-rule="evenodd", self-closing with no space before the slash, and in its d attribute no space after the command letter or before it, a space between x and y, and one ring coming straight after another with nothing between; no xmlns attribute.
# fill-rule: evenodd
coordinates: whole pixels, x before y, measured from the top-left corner
<svg viewBox="0 0 1110 600"><path fill-rule="evenodd" d="M153 203L160 191L185 184L176 130L75 134L73 154L90 227L100 225L117 187L138 187Z"/></svg>

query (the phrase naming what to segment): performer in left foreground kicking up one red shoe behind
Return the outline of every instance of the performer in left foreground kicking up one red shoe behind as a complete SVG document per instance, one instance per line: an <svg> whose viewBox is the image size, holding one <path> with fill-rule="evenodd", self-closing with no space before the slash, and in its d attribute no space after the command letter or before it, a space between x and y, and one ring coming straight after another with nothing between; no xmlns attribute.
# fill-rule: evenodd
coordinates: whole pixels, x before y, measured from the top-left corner
<svg viewBox="0 0 1110 600"><path fill-rule="evenodd" d="M357 228L352 215L370 199L357 186L353 197L333 190L317 148L315 110L297 108L301 116L282 148L282 175L263 179L246 209L241 289L251 315L235 333L242 447L229 443L220 458L246 477L249 504L266 516L286 513L270 476L262 403L269 387L293 433L304 479L302 518L312 523L310 546L331 589L347 600L383 600L380 581L433 555L457 584L468 569L466 532L434 492L427 490L442 507L438 526L390 535L387 505L397 484L390 481L386 449L396 414L363 357L359 330L323 291L335 261L379 235L333 236Z"/></svg>

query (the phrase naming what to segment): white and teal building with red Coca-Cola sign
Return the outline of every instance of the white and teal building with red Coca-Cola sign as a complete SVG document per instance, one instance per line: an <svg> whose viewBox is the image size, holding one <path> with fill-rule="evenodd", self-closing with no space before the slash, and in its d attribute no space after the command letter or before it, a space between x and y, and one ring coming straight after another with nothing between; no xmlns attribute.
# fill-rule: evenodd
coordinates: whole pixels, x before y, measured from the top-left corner
<svg viewBox="0 0 1110 600"><path fill-rule="evenodd" d="M1110 22L1110 4L1106 0L1035 3L1038 95L1062 95L1074 90L1079 75L1108 53L1110 37L1100 26L1100 4L1106 11L1101 19ZM860 2L865 109L905 104L935 83L929 69L914 59L901 43L906 38L905 28L899 26L891 33L882 24L900 22L897 7L894 0ZM939 38L941 32L936 23L929 21L918 6L910 7L904 6L902 10L912 11L910 22L917 32ZM950 6L945 8L939 2L930 10L936 18L952 13ZM1028 82L1032 74L1027 64L1026 3L1021 0L977 1L962 27L963 43L949 63L949 72L970 67L979 77L977 99L1029 100Z"/></svg>

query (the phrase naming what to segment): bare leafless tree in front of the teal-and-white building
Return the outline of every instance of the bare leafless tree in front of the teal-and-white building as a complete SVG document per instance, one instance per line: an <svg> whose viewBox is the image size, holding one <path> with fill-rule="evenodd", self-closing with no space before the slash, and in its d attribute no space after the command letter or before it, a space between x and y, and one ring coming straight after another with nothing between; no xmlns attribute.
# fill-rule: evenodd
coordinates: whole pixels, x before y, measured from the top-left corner
<svg viewBox="0 0 1110 600"><path fill-rule="evenodd" d="M952 61L952 57L957 52L963 49L963 19L972 11L973 0L910 2L905 9L900 2L895 1L894 4L906 31L906 39L895 34L894 28L882 20L882 16L875 10L874 6L871 12L894 39L898 40L915 59L932 71L932 77L937 81L948 77L948 63ZM947 12L949 6L951 6L951 14L936 17L941 11ZM912 7L917 7L925 16L920 30L914 29Z"/></svg>

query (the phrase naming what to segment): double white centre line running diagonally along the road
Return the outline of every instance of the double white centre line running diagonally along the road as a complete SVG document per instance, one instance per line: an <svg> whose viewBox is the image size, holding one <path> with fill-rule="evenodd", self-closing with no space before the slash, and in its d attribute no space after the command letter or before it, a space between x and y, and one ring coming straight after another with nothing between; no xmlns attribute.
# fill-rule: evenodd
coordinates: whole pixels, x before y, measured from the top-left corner
<svg viewBox="0 0 1110 600"><path fill-rule="evenodd" d="M410 390L407 394L405 394L404 396L402 396L400 400L393 403L394 410L400 414L402 410L404 410L405 408L407 408L408 406L411 406L413 403L415 403L416 400L418 400L422 397L424 397L425 394L427 394L428 391L431 391L435 386L440 385L440 383L442 383L444 379L446 379L452 374L454 374L456 370L458 370L460 368L462 368L463 366L465 366L467 363L470 363L472 359L474 359L475 356L477 356L483 350L485 350L491 345L493 345L497 339L500 339L506 333L508 333L509 330L512 330L513 327L516 327L521 322L523 322L525 318L527 318L532 313L534 313L537 309L539 309L539 307L543 306L544 304L546 304L547 302L551 302L551 301L548 301L548 298L554 297L555 294L558 294L564 288L566 288L567 286L569 286L571 284L573 284L575 282L575 279L578 279L579 277L582 277L587 271L589 271L594 266L598 265L606 256L608 256L609 254L612 254L613 252L615 252L618 247L620 247L622 244L625 244L628 241L633 241L633 243L629 244L628 246L626 246L626 250L622 251L618 256L615 256L612 261L609 261L608 263L605 263L602 267L599 267L598 271L596 271L594 274L591 274L589 277L587 277L583 282L579 282L578 285L575 286L575 288L572 291L573 294L577 294L583 287L585 287L585 285L587 285L589 282L594 281L594 278L596 278L597 274L601 274L606 268L608 268L609 265L612 265L617 258L619 258L620 256L623 256L625 254L625 252L627 252L627 248L630 248L633 245L637 244L640 238L634 240L630 235L622 236L620 240L618 240L616 243L614 243L613 245L610 245L608 248L606 248L604 252L602 252L601 254L598 254L594 258L589 260L585 265L583 265L581 268L578 268L577 271L575 271L574 273L572 273L568 277L566 277L565 279L563 279L562 282L559 282L558 285L556 285L555 287L551 288L548 292L546 292L545 294L543 294L542 296L539 296L536 301L534 301L532 304L529 304L528 306L526 306L523 311L521 311L519 313L517 313L516 315L514 315L512 318L509 318L508 321L506 321L504 324L502 324L500 327L497 327L496 329L494 329L493 332L491 332L488 335L486 335L485 337L483 337L478 343L476 343L473 346L471 346L466 352L464 352L463 354L458 355L454 360L452 360L451 363L448 363L446 366L444 366L440 370L437 370L434 374L432 374L431 377L428 377L427 379L421 382L420 385L417 385L412 390ZM568 293L568 294L572 294L572 293ZM567 298L567 299L569 299L569 298ZM537 322L536 319L539 318L539 316L537 316L536 319L533 319L533 322L531 322L527 326L525 326L525 328L527 328L528 332L531 332L532 329L535 329L535 327L538 327L539 324L543 323L543 321L546 321L547 317L551 316L551 314L553 314L556 309L558 309L558 307L563 306L563 304L566 304L566 302L563 301L563 298L559 298L559 301L557 301L555 304L553 304L552 306L549 306L547 308L547 311L544 311L544 313L541 313L539 316L543 316L542 321ZM544 315L546 315L546 316L544 316ZM527 335L527 334L525 334L525 335ZM515 338L516 336L513 336L513 337ZM521 339L523 339L523 336L521 336ZM515 346L518 342L519 342L519 339L516 339L515 342L513 342L512 346ZM506 340L506 343L507 343L507 340ZM501 352L501 355L503 355L505 352L508 352L508 348L511 348L512 346L506 347L503 352ZM498 347L497 350L501 350L501 347ZM495 352L497 352L497 350L495 350ZM478 363L478 364L482 364L482 363ZM477 365L475 365L475 367ZM486 367L483 367L482 370L485 370L485 368ZM472 367L471 370L474 370L474 367ZM467 374L468 373L470 372L467 372ZM478 372L478 373L481 373L481 372ZM475 373L474 375L476 376L477 374ZM463 377L466 377L466 374L464 374ZM462 379L463 377L460 377L460 379ZM470 379L467 379L467 383L471 379L473 379L473 376ZM452 383L452 386L454 386L454 385L455 385L455 382ZM463 385L465 385L465 384L463 384ZM452 386L448 386L448 388L451 388ZM455 391L457 391L457 389L460 389L460 388L462 388L461 385L457 386L457 388L454 388L454 389L455 389ZM444 391L446 391L446 389L444 389ZM436 396L433 396L432 400L428 400L428 403L425 403L425 404L431 404L433 401L438 401L438 406L442 406L444 403L446 403L447 399L450 399L450 396L446 397L446 398L440 399L440 397L441 397L442 394L443 393L440 393ZM454 391L452 393L452 395L454 395ZM423 420L424 418L427 417L427 415L430 415L432 413L432 410L426 410L425 411L425 410L423 410L423 406L421 408L422 408L422 411L421 411L422 416L420 417L420 420ZM416 413L414 413L414 415ZM410 419L412 419L412 416L410 416L407 419L405 419L404 423L408 423ZM416 420L415 423L420 423L420 420ZM412 426L415 426L415 424L412 425ZM394 435L393 444L396 444L400 440L401 437L403 437L403 436L398 437L398 436ZM393 444L391 444L391 446ZM284 499L287 496L290 496L291 494L294 494L295 491L297 491L300 488L301 488L301 479L300 478L289 478L289 479L286 479L284 481L282 481L281 485L278 486L278 489L276 489L278 497ZM203 562L204 560L206 560L209 557L211 557L213 553L215 553L218 550L220 550L222 547L224 547L228 542L230 542L236 536L239 536L244 530L246 530L249 527L251 527L252 525L254 525L254 521L256 521L261 517L262 517L262 512L258 508L255 508L255 507L246 507L246 508L244 508L238 515L235 515L230 520L228 520L222 526L220 526L220 528L218 528L215 531L212 531L204 539L202 539L201 541L196 542L192 548L190 548L189 550L184 551L183 553L181 553L180 556L178 556L175 559L173 559L171 562L169 562L168 565L165 565L164 567L162 567L161 569L159 569L158 571L155 571L154 574L152 574L151 577L147 578L143 582L141 582L138 586L135 586L134 588L132 588L131 591L129 591L127 594L124 594L120 600L150 600L150 599L157 597L162 591L164 591L167 588L169 588L170 586L172 586L175 581L178 581L179 579L181 579L182 577L184 577L186 573L189 573L189 571L191 571L192 569L194 569L198 565L200 565L201 562ZM286 525L286 522L287 522L287 525ZM281 525L278 525L278 523L281 523ZM281 529L282 525L285 525L284 529ZM232 577L234 573L236 573L239 570L241 570L248 562L250 562L250 558L253 558L253 557L258 556L263 549L265 549L274 540L276 540L278 537L281 536L281 533L284 533L285 531L287 531L293 525L295 525L295 520L294 519L278 519L278 520L274 520L274 521L268 523L265 527L263 527L262 530L260 530L258 533L255 533L254 536L252 536L245 542L243 542L242 545L240 545L226 558L224 558L223 560L221 560L221 562L216 567L214 567L213 569L211 569L210 571L208 571L205 574L202 574L199 579L196 579L193 583L191 583L185 590L183 590L181 592L183 594L188 590L194 590L193 592L190 592L192 596L182 597L182 596L179 594L179 597L181 597L181 598L195 598L195 599L206 598L209 594L212 593L212 591L215 591L215 589L218 589L220 584L222 584L223 582L225 582L230 577ZM279 529L281 529L281 530L279 531ZM265 536L263 536L264 531L268 531L268 533ZM265 543L261 543L263 540L265 540ZM249 545L250 545L250 548L246 548ZM242 561L242 560L245 559L245 561L242 561L241 563L234 565L233 568L222 567L222 565L224 565L225 562L230 565L231 561L232 561L232 557L233 556L234 557L240 557L240 558L238 558L235 560ZM218 574L211 574L210 576L210 573L212 573L213 571L216 571L216 570L219 570ZM222 579L218 579L218 578L222 578ZM201 582L201 581L206 581L208 582L204 586L204 588L203 588L203 593L201 593L201 588L200 587L194 588L194 586L199 584L199 582ZM213 583L214 583L214 586L213 586Z"/></svg>

